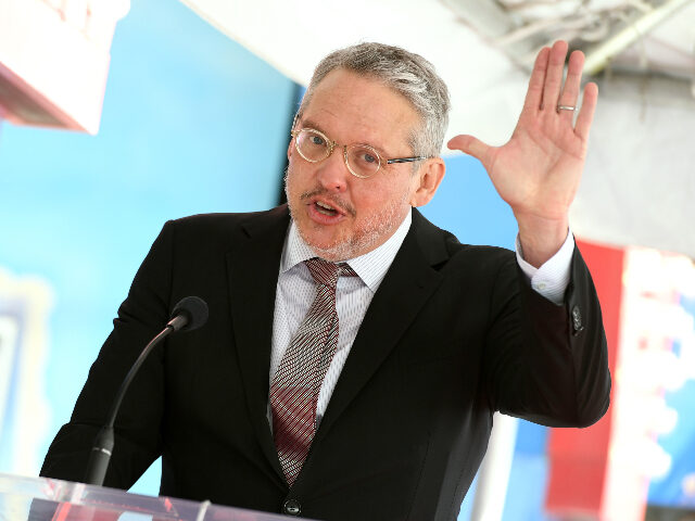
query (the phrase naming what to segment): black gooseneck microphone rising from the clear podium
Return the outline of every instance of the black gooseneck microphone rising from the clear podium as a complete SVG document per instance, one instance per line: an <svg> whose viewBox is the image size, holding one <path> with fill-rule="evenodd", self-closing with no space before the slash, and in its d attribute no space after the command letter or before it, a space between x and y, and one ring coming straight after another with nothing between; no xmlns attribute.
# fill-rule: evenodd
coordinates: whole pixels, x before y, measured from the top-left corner
<svg viewBox="0 0 695 521"><path fill-rule="evenodd" d="M109 461L111 460L111 454L114 446L114 431L113 424L121 408L121 402L130 385L134 377L140 369L140 366L148 357L152 348L165 339L169 333L176 331L192 331L200 328L207 321L207 304L205 301L198 296L187 296L181 298L174 310L172 312L172 319L160 334L154 336L150 343L142 350L140 356L135 361L128 374L124 379L116 397L111 405L111 411L109 412L109 419L104 427L101 428L99 434L94 439L94 445L91 448L89 455L89 461L87 463L87 473L85 483L88 485L103 485L104 478L106 475L106 469L109 468Z"/></svg>

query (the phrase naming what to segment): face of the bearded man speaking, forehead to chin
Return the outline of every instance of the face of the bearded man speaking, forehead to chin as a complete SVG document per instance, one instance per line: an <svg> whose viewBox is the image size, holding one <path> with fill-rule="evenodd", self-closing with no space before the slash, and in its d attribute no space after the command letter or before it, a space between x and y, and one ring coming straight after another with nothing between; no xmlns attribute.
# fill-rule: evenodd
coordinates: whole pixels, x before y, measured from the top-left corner
<svg viewBox="0 0 695 521"><path fill-rule="evenodd" d="M418 186L409 163L383 160L414 155L409 132L419 116L401 94L378 80L336 69L316 86L295 130L313 128L338 142L319 163L288 149L287 199L304 241L328 260L363 255L383 244L410 209ZM353 176L343 160L344 144L369 144L382 166L367 179Z"/></svg>

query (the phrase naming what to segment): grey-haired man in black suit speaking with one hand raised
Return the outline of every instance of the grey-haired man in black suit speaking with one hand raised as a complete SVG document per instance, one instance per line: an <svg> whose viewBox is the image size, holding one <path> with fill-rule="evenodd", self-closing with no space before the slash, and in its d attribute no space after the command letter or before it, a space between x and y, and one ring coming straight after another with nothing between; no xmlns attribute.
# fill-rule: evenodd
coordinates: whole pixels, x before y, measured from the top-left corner
<svg viewBox="0 0 695 521"><path fill-rule="evenodd" d="M540 52L508 143L448 143L480 158L511 206L517 257L462 245L413 209L444 175L448 94L431 65L377 43L327 56L292 129L289 211L164 227L42 474L84 479L115 390L187 295L210 320L142 366L106 485L129 487L162 455L163 495L453 520L495 410L548 425L601 418L605 336L567 217L597 91L586 86L574 124L583 55L563 86L566 54L565 42Z"/></svg>

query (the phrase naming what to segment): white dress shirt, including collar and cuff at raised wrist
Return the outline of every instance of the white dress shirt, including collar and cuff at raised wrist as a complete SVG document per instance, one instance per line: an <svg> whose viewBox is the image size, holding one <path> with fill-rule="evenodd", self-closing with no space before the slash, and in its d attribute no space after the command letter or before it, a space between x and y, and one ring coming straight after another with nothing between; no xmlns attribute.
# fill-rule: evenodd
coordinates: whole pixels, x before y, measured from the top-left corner
<svg viewBox="0 0 695 521"><path fill-rule="evenodd" d="M369 253L346 262L358 277L340 277L338 279L336 289L336 307L340 325L338 347L319 392L316 407L317 423L326 411L371 298L379 289L379 284L386 277L405 236L410 229L412 219L412 215L408 212L401 226L387 242ZM534 268L523 260L518 238L516 250L517 262L529 277L531 287L552 302L560 304L569 282L570 260L574 250L574 240L571 233L567 234L565 244L555 256L540 268ZM301 238L294 221L291 221L282 247L275 296L270 381L273 381L280 366L285 352L290 346L292 336L296 333L314 301L316 285L304 260L315 256L316 254ZM268 420L270 418L268 404ZM273 421L269 421L269 423L273 427Z"/></svg>

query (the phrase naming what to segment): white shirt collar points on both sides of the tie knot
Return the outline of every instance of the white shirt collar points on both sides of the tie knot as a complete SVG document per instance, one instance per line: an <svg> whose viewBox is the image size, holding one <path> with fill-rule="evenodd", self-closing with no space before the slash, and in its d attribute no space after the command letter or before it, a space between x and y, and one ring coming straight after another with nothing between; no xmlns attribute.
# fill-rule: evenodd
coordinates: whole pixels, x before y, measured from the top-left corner
<svg viewBox="0 0 695 521"><path fill-rule="evenodd" d="M372 291L376 292L381 281L391 267L391 263L399 253L401 244L405 240L405 236L410 229L413 223L412 212L408 212L395 232L379 247L365 253L355 258L346 260L348 265L359 276L362 281ZM292 269L300 263L315 257L316 254L304 239L300 236L294 220L290 220L290 229L282 249L282 258L280 260L280 274Z"/></svg>

